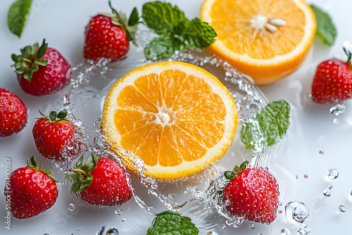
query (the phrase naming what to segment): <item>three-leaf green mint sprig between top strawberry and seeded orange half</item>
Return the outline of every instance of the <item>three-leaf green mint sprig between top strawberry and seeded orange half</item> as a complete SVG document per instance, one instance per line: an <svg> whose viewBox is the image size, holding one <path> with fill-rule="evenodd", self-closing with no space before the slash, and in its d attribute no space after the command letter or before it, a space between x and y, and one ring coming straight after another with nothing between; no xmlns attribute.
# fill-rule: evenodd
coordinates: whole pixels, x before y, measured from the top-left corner
<svg viewBox="0 0 352 235"><path fill-rule="evenodd" d="M177 6L161 1L144 4L142 18L148 27L159 34L144 49L149 60L168 58L175 51L203 49L213 44L217 36L208 23L199 18L189 20Z"/></svg>

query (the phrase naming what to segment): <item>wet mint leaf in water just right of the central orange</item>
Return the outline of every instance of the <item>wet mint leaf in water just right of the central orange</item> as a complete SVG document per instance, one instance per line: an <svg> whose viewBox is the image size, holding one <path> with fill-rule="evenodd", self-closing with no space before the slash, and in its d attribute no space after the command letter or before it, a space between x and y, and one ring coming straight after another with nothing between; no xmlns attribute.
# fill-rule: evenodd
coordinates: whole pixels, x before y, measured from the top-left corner
<svg viewBox="0 0 352 235"><path fill-rule="evenodd" d="M257 113L253 122L244 122L241 128L241 141L246 148L255 148L255 144L260 139L264 140L265 146L279 143L289 129L290 109L287 101L274 101ZM254 122L258 122L260 129L254 125Z"/></svg>

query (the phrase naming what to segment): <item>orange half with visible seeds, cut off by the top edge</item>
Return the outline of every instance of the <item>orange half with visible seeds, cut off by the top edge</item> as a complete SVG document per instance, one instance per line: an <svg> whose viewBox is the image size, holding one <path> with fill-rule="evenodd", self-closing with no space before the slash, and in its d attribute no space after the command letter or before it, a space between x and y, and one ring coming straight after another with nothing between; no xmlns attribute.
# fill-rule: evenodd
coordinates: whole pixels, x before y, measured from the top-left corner
<svg viewBox="0 0 352 235"><path fill-rule="evenodd" d="M294 72L316 30L315 15L303 0L205 0L201 20L218 34L209 51L258 85Z"/></svg>

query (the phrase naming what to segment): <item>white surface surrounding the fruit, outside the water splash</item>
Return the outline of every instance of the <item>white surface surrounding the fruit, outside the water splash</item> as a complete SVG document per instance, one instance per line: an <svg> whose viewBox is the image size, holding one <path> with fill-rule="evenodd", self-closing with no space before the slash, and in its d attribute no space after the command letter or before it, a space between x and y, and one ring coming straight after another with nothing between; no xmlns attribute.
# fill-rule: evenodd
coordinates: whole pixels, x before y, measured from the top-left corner
<svg viewBox="0 0 352 235"><path fill-rule="evenodd" d="M2 0L0 3L0 87L13 91L25 102L29 119L27 127L19 134L0 139L0 188L5 180L5 158L11 158L11 168L15 170L25 165L32 154L37 155L44 167L51 167L48 161L39 157L32 140L32 126L37 118L37 110L44 109L50 102L61 97L54 95L34 97L25 94L11 65L12 53L34 42L42 42L45 38L49 46L61 51L71 65L82 61L84 42L84 27L89 18L98 12L110 12L106 1L99 0L34 0L27 25L20 39L8 31L6 15L12 0ZM282 202L302 201L310 210L306 224L311 229L310 234L349 234L352 231L352 103L344 103L346 110L335 116L329 113L332 105L318 105L309 99L310 84L317 65L332 57L346 59L342 46L348 46L352 40L352 30L349 25L352 2L346 0L315 0L320 8L328 11L337 25L338 36L333 46L325 46L320 39L315 38L306 61L301 68L286 79L275 84L260 87L269 101L286 99L293 107L293 123L291 136L287 136L284 155L273 155L270 166L277 170L277 177L282 187L287 189L282 195ZM125 13L130 13L134 6L139 10L144 1L113 1L113 6ZM201 0L172 1L177 4L189 18L199 16ZM319 151L324 151L320 155ZM280 151L282 153L282 151ZM339 171L337 179L329 179L327 171L336 168ZM289 172L284 174L282 172ZM307 174L308 178L303 176ZM298 179L294 179L297 176ZM332 184L332 196L325 197L322 191ZM61 186L59 186L61 190ZM58 202L51 210L30 220L11 220L11 230L5 229L6 215L4 196L0 196L0 234L95 234L103 225L114 225L121 235L128 231L134 234L146 234L153 216L139 208L134 201L122 206L123 215L115 215L113 209L96 210L94 208L79 208L75 212L67 210L70 198L62 193ZM346 212L339 212L339 205L346 206ZM284 205L280 208L284 210ZM2 219L1 219L2 218ZM255 229L249 229L243 224L239 229L233 229L233 234L280 234L285 227L296 234L297 226L289 224L284 212L271 225L256 224ZM130 229L129 229L130 228ZM133 229L131 229L133 228ZM208 231L201 231L206 234ZM218 231L222 234L221 231ZM131 233L130 233L131 234Z"/></svg>

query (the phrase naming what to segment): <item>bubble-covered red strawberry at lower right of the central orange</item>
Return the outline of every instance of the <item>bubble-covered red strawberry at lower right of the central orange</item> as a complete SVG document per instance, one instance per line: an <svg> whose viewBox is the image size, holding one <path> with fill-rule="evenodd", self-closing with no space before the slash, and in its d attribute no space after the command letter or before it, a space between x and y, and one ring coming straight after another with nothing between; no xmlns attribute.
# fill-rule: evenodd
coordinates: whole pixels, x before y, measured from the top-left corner
<svg viewBox="0 0 352 235"><path fill-rule="evenodd" d="M223 201L231 215L270 224L277 216L279 186L267 170L246 168L246 163L225 172L227 179L233 178L223 191Z"/></svg>

